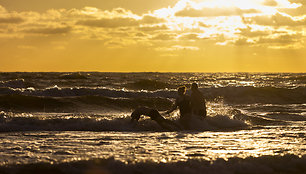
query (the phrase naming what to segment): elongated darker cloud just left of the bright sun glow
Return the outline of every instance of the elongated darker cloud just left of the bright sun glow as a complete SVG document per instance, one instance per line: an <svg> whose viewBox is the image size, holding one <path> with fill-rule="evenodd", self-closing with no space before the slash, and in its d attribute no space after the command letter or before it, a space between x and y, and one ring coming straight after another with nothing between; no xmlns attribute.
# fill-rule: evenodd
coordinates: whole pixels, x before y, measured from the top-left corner
<svg viewBox="0 0 306 174"><path fill-rule="evenodd" d="M89 27L101 27L101 28L118 28L137 26L139 21L134 18L103 18L103 19L88 19L80 20L77 25L89 26Z"/></svg>

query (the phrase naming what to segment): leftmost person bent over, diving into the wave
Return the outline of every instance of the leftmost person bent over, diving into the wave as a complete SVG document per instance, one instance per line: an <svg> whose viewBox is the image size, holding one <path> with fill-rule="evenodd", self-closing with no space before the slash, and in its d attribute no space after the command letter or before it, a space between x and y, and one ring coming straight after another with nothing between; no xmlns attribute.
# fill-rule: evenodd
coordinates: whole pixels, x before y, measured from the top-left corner
<svg viewBox="0 0 306 174"><path fill-rule="evenodd" d="M156 109L148 108L148 107L139 107L134 110L131 114L131 122L138 122L142 115L149 116L152 120L156 121L162 128L167 130L173 130L176 128L180 130L181 128L172 122L171 120L165 119Z"/></svg>

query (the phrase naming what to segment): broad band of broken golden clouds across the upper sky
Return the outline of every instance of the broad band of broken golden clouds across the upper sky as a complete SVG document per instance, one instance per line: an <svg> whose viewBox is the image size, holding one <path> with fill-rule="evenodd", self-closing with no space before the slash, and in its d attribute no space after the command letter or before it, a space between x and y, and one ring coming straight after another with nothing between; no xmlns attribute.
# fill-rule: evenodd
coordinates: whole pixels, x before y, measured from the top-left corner
<svg viewBox="0 0 306 174"><path fill-rule="evenodd" d="M3 27L3 36L24 37L37 34L37 37L48 35L51 38L52 35L69 33L76 41L96 40L111 48L142 43L155 47L160 43L175 45L178 42L201 45L204 39L205 43L210 44L251 47L269 43L274 46L301 43L301 39L295 38L292 33L302 33L303 28L296 26L304 26L306 16L291 16L280 12L285 8L284 3L281 3L283 1L289 4L305 4L304 0L262 0L257 2L258 6L248 6L244 9L239 4L230 3L219 6L209 3L177 3L174 7L148 11L142 15L136 15L124 8L101 10L85 7L53 9L39 13L9 12L0 6L0 27ZM281 31L283 33L277 33ZM304 36L301 34L300 37ZM168 48L197 49L178 45Z"/></svg>

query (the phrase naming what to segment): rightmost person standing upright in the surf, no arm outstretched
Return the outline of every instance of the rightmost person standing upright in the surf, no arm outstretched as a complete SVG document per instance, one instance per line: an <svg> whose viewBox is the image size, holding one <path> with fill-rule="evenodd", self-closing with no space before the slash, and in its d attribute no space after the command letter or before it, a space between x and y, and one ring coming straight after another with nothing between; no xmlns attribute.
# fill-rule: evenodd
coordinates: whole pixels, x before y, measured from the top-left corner
<svg viewBox="0 0 306 174"><path fill-rule="evenodd" d="M205 118L206 113L206 104L205 97L201 91L199 91L198 85L192 83L191 85L191 108L192 114L200 116L201 119Z"/></svg>

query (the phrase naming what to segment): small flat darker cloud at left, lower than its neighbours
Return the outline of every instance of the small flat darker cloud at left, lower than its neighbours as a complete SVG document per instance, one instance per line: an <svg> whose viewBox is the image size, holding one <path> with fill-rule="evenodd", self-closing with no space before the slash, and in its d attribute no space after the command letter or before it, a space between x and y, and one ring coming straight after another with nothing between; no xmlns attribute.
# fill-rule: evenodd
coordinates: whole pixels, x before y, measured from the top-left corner
<svg viewBox="0 0 306 174"><path fill-rule="evenodd" d="M45 27L45 28L32 28L23 30L25 33L34 34L67 34L71 31L71 27Z"/></svg>

